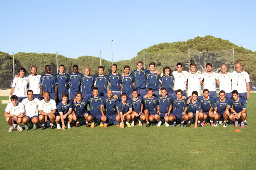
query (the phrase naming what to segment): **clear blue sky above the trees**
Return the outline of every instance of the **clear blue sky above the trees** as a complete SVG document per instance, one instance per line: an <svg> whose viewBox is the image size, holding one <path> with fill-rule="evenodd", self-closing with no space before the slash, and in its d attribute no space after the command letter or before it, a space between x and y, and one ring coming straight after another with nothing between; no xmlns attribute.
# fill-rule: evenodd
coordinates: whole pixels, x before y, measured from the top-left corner
<svg viewBox="0 0 256 170"><path fill-rule="evenodd" d="M256 51L255 0L1 1L0 51L131 59L161 42L212 35Z"/></svg>

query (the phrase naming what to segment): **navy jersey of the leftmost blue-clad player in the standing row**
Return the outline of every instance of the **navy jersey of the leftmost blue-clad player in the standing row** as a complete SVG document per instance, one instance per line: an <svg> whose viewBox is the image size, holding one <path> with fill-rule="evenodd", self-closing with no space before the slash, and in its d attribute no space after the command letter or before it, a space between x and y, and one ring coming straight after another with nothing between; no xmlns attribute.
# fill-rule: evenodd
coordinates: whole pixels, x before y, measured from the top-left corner
<svg viewBox="0 0 256 170"><path fill-rule="evenodd" d="M53 74L44 74L40 78L40 85L43 86L43 91L48 91L49 93L55 92L55 85L57 85L57 77Z"/></svg>

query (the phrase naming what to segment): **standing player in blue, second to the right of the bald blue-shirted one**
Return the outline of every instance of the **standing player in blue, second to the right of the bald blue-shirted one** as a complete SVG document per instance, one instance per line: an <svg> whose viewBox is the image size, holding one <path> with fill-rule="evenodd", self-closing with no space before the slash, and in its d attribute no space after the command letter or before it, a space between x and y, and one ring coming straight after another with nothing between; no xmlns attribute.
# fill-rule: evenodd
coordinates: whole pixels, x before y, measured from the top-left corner
<svg viewBox="0 0 256 170"><path fill-rule="evenodd" d="M121 88L122 88L122 76L121 74L116 72L117 65L112 64L111 70L112 73L108 74L108 84L109 84L109 89L112 90L113 95L117 95L119 101L121 101Z"/></svg>

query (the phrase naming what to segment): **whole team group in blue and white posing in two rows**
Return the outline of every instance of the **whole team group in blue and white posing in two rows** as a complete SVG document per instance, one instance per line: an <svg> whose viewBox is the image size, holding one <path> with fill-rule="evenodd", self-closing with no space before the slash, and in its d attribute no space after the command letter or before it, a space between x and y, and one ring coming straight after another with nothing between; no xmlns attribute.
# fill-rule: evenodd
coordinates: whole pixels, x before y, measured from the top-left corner
<svg viewBox="0 0 256 170"><path fill-rule="evenodd" d="M77 65L73 65L71 74L65 73L64 65L60 65L59 73L51 74L51 67L45 66L45 74L37 74L37 68L31 68L31 74L25 77L25 68L20 68L19 75L12 82L10 103L6 106L6 122L9 132L17 125L17 130L33 130L46 128L46 122L52 129L71 128L85 125L108 127L111 123L116 127L133 127L138 120L139 126L156 125L163 122L168 127L175 127L180 122L189 127L195 122L195 128L202 127L209 117L210 126L230 124L238 127L247 125L246 104L250 97L250 78L242 71L241 63L236 63L236 71L227 72L227 66L221 65L221 72L212 71L212 64L207 63L207 71L203 74L196 71L194 62L190 64L191 72L183 71L180 62L177 71L169 67L163 73L155 70L155 63L149 63L149 70L142 69L143 63L137 62L137 69L130 73L130 67L124 67L124 73L116 72L117 65L111 66L112 73L104 74L104 67L98 67L98 76L90 75L90 68L79 73ZM215 83L220 87L217 98ZM162 85L159 95L159 86ZM200 85L204 85L203 96ZM109 85L109 89L107 88ZM27 90L27 87L29 90ZM188 89L188 96L186 89ZM90 111L87 106L89 105ZM66 122L66 125L65 125ZM89 124L90 123L90 124Z"/></svg>

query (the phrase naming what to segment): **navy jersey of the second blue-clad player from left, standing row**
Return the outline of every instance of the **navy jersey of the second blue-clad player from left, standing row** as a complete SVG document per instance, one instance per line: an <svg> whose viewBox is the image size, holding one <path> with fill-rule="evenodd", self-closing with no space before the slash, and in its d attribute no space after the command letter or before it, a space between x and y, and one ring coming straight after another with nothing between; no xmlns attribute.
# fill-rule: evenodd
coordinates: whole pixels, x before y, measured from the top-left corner
<svg viewBox="0 0 256 170"><path fill-rule="evenodd" d="M58 93L68 93L68 84L70 83L70 77L68 74L56 74L58 81Z"/></svg>

